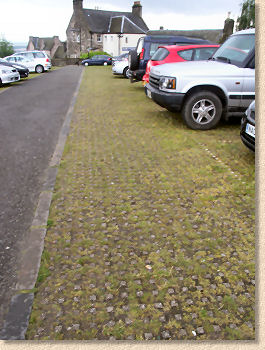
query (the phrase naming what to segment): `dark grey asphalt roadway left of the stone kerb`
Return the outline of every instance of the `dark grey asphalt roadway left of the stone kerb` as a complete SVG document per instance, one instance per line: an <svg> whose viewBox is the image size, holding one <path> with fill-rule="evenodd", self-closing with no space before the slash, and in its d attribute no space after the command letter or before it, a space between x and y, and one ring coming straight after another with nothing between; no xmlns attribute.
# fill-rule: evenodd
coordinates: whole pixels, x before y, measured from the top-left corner
<svg viewBox="0 0 265 350"><path fill-rule="evenodd" d="M16 292L20 246L82 68L0 88L0 328Z"/></svg>

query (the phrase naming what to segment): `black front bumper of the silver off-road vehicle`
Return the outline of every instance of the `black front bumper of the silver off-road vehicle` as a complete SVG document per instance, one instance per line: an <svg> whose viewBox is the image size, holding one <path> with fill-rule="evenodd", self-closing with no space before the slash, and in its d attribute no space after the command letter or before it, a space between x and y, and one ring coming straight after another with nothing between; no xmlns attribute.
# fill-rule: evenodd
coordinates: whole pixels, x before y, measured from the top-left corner
<svg viewBox="0 0 265 350"><path fill-rule="evenodd" d="M159 106L179 112L181 110L184 94L174 92L164 92L151 86L145 85L146 96L151 98Z"/></svg>

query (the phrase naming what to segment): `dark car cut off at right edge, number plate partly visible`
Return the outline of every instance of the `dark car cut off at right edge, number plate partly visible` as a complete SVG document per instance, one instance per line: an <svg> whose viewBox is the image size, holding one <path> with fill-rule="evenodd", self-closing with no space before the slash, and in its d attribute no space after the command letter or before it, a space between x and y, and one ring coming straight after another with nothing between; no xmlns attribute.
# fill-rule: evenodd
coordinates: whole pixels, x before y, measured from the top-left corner
<svg viewBox="0 0 265 350"><path fill-rule="evenodd" d="M251 102L241 120L240 137L243 143L255 152L255 101Z"/></svg>

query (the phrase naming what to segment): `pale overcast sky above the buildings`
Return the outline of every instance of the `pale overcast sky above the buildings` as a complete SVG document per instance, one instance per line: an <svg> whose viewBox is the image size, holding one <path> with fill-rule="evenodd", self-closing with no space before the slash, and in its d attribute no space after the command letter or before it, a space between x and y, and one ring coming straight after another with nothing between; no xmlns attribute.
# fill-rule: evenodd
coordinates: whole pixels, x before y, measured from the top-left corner
<svg viewBox="0 0 265 350"><path fill-rule="evenodd" d="M84 8L130 12L134 0L84 0ZM143 19L149 29L222 29L227 13L234 20L243 0L141 0ZM59 35L73 12L72 0L0 0L0 37L28 42L30 35Z"/></svg>

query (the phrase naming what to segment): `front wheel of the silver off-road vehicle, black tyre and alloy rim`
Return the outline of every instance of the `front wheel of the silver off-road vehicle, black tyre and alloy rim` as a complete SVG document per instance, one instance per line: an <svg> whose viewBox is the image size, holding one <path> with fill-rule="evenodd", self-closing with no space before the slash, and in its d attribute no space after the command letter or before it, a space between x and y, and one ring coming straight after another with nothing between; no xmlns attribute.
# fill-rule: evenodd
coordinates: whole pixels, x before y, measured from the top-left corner
<svg viewBox="0 0 265 350"><path fill-rule="evenodd" d="M194 130L213 129L220 121L222 102L210 91L200 91L187 98L182 108L185 124Z"/></svg>

